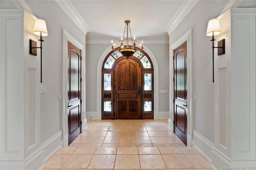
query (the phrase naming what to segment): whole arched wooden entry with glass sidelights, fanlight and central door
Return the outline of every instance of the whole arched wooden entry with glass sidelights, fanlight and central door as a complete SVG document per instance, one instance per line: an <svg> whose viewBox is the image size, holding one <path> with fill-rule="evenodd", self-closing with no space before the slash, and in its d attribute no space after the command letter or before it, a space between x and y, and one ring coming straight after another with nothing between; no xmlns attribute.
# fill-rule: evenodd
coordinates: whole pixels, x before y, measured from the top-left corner
<svg viewBox="0 0 256 170"><path fill-rule="evenodd" d="M154 67L145 51L111 51L102 64L102 119L154 118Z"/></svg>

